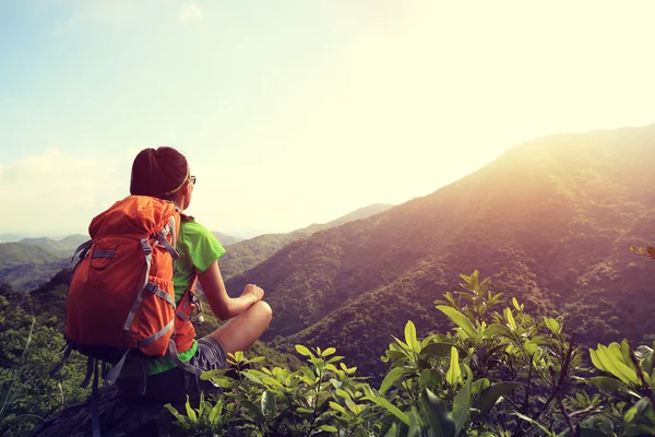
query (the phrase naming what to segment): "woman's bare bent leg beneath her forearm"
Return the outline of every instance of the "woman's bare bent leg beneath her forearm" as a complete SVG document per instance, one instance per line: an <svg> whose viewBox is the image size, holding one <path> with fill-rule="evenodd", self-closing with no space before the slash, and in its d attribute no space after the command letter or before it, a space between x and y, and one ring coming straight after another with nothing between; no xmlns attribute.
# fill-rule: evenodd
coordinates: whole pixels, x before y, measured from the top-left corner
<svg viewBox="0 0 655 437"><path fill-rule="evenodd" d="M207 336L218 340L226 353L246 351L269 327L272 317L269 304L260 300Z"/></svg>

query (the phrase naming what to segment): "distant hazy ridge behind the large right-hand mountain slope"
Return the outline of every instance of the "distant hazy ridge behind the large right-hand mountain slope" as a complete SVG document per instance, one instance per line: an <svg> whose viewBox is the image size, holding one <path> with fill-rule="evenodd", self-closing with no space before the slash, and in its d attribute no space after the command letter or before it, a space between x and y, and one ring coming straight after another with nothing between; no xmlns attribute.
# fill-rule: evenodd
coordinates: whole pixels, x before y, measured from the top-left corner
<svg viewBox="0 0 655 437"><path fill-rule="evenodd" d="M392 206L390 204L376 203L360 208L329 223L312 224L288 234L264 234L231 245L221 258L221 273L225 280L229 280L255 267L289 243L309 237L320 231L331 229L348 222L370 217ZM221 239L218 240L221 241Z"/></svg>

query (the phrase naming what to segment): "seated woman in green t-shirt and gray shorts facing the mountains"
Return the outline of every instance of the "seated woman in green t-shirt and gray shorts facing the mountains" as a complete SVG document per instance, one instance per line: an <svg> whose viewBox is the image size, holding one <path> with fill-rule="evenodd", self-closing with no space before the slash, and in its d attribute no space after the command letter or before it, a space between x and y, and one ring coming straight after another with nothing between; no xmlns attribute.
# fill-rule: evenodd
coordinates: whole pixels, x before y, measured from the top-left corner
<svg viewBox="0 0 655 437"><path fill-rule="evenodd" d="M170 200L183 211L191 203L195 180L187 158L177 150L166 146L145 149L134 158L130 192ZM176 249L180 253L174 270L176 304L198 275L212 312L228 320L203 339L193 340L188 350L178 350L178 357L201 370L225 368L226 353L249 349L271 322L271 307L262 300L264 291L248 284L239 297L228 296L218 269L218 259L225 249L193 217L182 220ZM186 323L192 329L191 322ZM143 371L141 365L126 363L117 380L119 390L136 391L139 374ZM210 382L200 380L196 373L186 370L168 356L147 359L144 368L147 376L145 394L150 398L183 401L187 394L195 398L201 390L213 388Z"/></svg>

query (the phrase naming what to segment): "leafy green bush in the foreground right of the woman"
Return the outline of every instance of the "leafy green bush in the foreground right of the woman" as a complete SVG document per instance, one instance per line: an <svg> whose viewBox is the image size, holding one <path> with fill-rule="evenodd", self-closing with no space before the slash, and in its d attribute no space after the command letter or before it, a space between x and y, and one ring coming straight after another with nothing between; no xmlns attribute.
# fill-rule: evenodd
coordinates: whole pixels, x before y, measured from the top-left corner
<svg viewBox="0 0 655 437"><path fill-rule="evenodd" d="M334 347L296 345L307 364L249 368L261 357L230 355L231 370L203 375L222 387L187 415L167 405L189 435L247 436L639 436L655 434L653 349L628 342L590 351L590 366L563 321L535 319L478 272L437 308L454 332L417 339L412 321L393 338L379 388ZM338 366L338 367L337 367ZM228 376L231 374L231 377Z"/></svg>

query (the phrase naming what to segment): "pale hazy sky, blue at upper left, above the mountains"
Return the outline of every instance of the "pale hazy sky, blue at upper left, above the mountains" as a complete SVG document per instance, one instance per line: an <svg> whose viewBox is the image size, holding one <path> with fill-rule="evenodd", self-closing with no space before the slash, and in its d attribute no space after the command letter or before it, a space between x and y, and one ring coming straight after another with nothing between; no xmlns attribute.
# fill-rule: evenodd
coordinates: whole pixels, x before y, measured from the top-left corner
<svg viewBox="0 0 655 437"><path fill-rule="evenodd" d="M535 137L655 122L655 2L0 0L0 234L85 234L144 147L251 237Z"/></svg>

